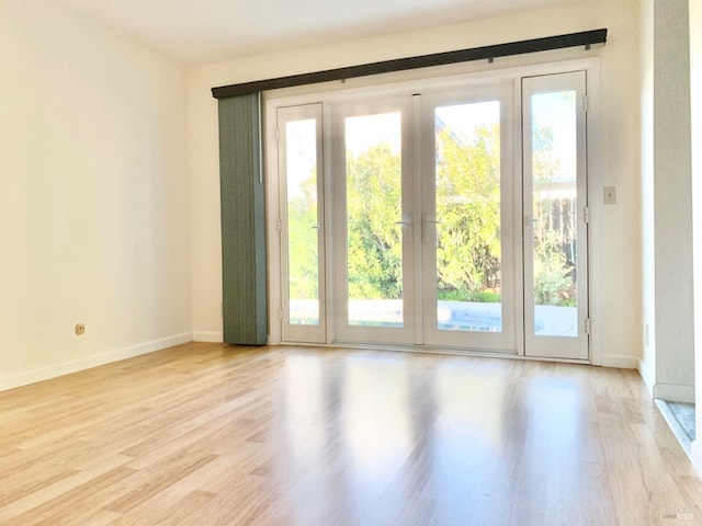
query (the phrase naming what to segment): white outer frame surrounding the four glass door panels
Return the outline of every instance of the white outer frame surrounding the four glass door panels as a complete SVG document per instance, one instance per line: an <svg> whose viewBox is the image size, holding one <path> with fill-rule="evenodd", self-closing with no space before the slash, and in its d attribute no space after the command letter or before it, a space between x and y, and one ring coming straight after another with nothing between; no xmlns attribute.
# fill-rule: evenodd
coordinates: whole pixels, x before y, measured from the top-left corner
<svg viewBox="0 0 702 526"><path fill-rule="evenodd" d="M561 55L563 57L563 55ZM514 64L514 62L512 62ZM438 78L440 71L446 71L445 77ZM275 111L278 107L285 105L298 105L309 104L313 102L339 102L349 101L358 98L364 98L369 93L381 94L397 94L406 93L412 94L420 91L432 91L445 88L457 87L472 87L479 85L486 82L495 82L496 80L512 80L519 81L522 77L539 76L539 75L552 75L563 71L574 70L587 70L588 76L588 197L590 209L590 222L589 222L589 285L590 285L590 300L589 310L591 319L591 332L590 332L590 358L589 362L595 365L601 364L601 322L600 322L600 284L601 284L601 268L600 268L600 237L601 227L599 213L601 211L600 203L600 173L601 173L601 145L599 141L599 58L596 53L590 56L579 59L562 59L559 61L544 62L544 64L526 64L522 66L513 66L508 68L500 68L495 65L488 65L483 62L467 62L464 65L433 68L431 71L431 78L428 78L428 73L422 70L414 72L403 73L388 73L383 76L376 76L365 79L355 79L353 82L348 82L346 85L339 83L320 84L318 87L301 87L297 89L286 89L280 91L271 91L263 94L265 101L264 105L264 118L265 118L265 182L267 182L267 206L269 210L268 221L268 239L269 239L269 343L280 344L284 342L281 338L279 311L281 306L281 283L280 283L280 251L276 243L278 240L278 225L271 219L272 210L276 210L278 203L280 202L280 187L278 175L278 159L276 148L274 140L275 129ZM519 111L519 103L521 101L521 94L518 90L514 92L514 118L521 118L521 112ZM325 115L325 118L327 116ZM520 141L514 141L516 164L519 164L519 158L521 156ZM327 148L325 146L325 148ZM325 150L326 151L326 150ZM328 167L326 167L328 168ZM516 205L517 206L517 205ZM514 222L521 227L522 217L519 215L516 217ZM329 247L327 247L329 250ZM329 268L327 268L329 271ZM517 276L518 288L521 276ZM332 306L330 306L331 308ZM516 320L517 329L519 332L519 324L522 320L519 318ZM522 331L523 333L523 331ZM331 338L327 338L327 345L333 345ZM523 342L518 339L516 345L517 354L524 356ZM408 347L411 350L412 347ZM432 351L431 348L424 348L426 351ZM473 351L466 351L467 354L474 354ZM482 354L479 351L475 353ZM544 358L540 358L544 359ZM550 358L545 358L550 359ZM570 362L569 359L564 359ZM581 362L581 361L575 361Z"/></svg>

